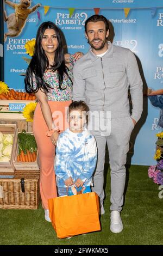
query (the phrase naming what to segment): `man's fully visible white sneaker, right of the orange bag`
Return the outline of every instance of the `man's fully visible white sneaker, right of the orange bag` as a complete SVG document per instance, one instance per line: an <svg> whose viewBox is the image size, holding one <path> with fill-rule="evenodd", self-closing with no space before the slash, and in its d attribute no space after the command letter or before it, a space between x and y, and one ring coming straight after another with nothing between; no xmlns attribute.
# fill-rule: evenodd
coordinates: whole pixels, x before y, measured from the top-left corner
<svg viewBox="0 0 163 256"><path fill-rule="evenodd" d="M119 211L111 211L110 230L112 233L120 233L123 230L123 224Z"/></svg>

